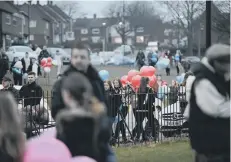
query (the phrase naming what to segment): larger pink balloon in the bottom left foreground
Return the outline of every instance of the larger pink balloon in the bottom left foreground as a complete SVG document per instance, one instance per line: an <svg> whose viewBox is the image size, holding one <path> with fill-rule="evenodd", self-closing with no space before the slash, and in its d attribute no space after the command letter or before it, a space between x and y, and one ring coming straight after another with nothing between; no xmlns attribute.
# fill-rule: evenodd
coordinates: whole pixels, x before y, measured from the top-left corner
<svg viewBox="0 0 231 162"><path fill-rule="evenodd" d="M55 138L37 138L28 141L23 162L66 162L71 153L61 141Z"/></svg>

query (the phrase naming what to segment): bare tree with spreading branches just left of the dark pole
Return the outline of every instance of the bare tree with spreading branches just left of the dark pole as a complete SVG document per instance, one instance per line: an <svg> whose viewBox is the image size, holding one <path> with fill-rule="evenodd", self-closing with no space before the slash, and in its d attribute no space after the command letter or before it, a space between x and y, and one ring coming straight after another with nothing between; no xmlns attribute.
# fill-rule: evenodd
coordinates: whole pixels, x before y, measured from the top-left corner
<svg viewBox="0 0 231 162"><path fill-rule="evenodd" d="M202 1L165 1L161 2L167 7L171 19L176 22L179 30L187 36L188 54L193 52L193 25L194 20L205 8L205 2Z"/></svg>

